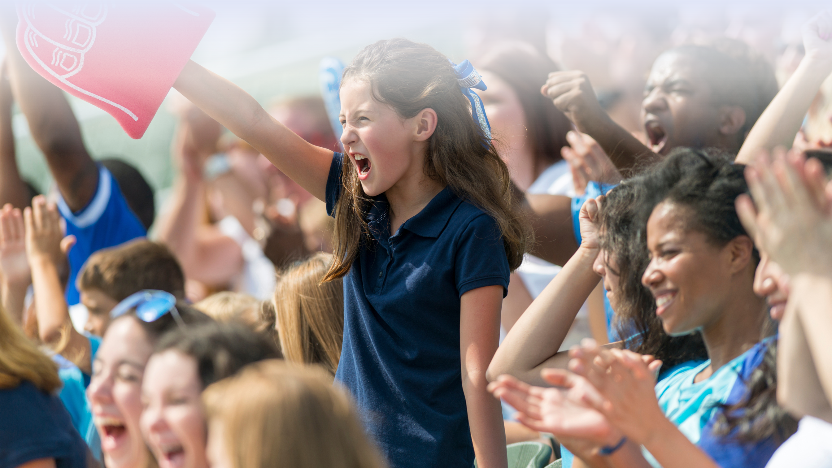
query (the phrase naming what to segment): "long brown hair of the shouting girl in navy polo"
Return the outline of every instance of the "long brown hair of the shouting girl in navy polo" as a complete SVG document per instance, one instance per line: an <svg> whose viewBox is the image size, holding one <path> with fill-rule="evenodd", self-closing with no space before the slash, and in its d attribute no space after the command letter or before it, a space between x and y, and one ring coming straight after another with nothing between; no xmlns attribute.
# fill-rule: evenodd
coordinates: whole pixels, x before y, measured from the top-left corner
<svg viewBox="0 0 832 468"><path fill-rule="evenodd" d="M428 140L424 174L488 213L503 234L508 266L518 268L532 244L530 225L510 190L508 167L471 118L448 57L427 44L396 38L364 47L346 69L348 80L369 82L376 101L409 119L430 108L437 125ZM349 271L363 242L369 241L364 194L354 165L344 158L341 195L335 203L334 262L324 281Z"/></svg>

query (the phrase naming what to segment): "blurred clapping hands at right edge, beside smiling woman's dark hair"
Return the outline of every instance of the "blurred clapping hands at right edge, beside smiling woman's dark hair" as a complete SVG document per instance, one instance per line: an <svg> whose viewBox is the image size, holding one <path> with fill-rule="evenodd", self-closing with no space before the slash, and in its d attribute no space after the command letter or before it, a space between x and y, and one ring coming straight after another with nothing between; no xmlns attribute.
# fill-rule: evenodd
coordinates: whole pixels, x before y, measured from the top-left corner
<svg viewBox="0 0 832 468"><path fill-rule="evenodd" d="M813 165L816 163L813 163ZM758 249L785 273L832 274L832 215L819 192L823 176L806 170L800 155L760 155L745 170L751 197L740 195L737 214ZM809 165L810 169L812 165Z"/></svg>

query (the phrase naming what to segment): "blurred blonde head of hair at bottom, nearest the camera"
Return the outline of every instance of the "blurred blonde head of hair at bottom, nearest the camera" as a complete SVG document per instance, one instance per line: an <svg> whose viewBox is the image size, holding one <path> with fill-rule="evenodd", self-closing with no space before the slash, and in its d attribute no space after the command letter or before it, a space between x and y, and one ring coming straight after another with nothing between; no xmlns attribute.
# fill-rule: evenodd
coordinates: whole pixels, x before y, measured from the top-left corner
<svg viewBox="0 0 832 468"><path fill-rule="evenodd" d="M267 360L202 394L233 468L381 468L346 392L316 367Z"/></svg>

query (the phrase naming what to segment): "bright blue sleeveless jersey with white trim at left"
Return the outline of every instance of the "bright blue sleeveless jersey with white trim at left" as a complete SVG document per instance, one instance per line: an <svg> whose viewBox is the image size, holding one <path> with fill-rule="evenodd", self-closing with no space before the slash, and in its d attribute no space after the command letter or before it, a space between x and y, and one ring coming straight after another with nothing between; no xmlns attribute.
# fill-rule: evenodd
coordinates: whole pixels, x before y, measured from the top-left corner
<svg viewBox="0 0 832 468"><path fill-rule="evenodd" d="M98 166L96 195L84 209L73 213L60 194L57 207L67 220L67 235L77 239L68 255L67 303L72 306L80 300L75 280L89 256L98 250L144 237L147 231L124 200L118 182L102 165Z"/></svg>

